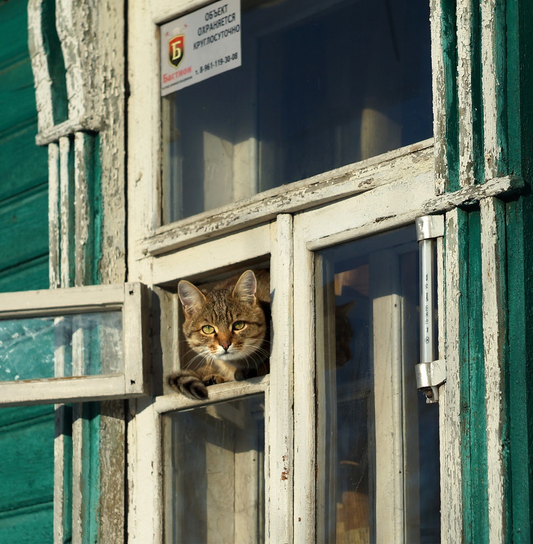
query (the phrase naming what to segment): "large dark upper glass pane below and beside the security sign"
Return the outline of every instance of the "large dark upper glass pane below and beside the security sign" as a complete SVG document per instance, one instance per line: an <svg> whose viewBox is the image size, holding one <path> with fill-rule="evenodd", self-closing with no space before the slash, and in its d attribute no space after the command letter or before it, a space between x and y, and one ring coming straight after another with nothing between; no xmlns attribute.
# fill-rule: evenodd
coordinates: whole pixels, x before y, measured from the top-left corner
<svg viewBox="0 0 533 544"><path fill-rule="evenodd" d="M432 135L427 0L243 0L242 65L163 100L163 221Z"/></svg>

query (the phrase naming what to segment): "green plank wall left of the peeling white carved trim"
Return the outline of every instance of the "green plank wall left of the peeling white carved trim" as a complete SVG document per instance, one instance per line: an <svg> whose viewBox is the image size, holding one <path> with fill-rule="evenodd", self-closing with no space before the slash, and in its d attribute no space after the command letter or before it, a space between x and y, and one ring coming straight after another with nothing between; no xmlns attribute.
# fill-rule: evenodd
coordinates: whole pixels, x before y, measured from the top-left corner
<svg viewBox="0 0 533 544"><path fill-rule="evenodd" d="M0 291L48 287L46 148L28 54L27 0L0 0ZM0 542L53 540L53 406L0 410Z"/></svg>

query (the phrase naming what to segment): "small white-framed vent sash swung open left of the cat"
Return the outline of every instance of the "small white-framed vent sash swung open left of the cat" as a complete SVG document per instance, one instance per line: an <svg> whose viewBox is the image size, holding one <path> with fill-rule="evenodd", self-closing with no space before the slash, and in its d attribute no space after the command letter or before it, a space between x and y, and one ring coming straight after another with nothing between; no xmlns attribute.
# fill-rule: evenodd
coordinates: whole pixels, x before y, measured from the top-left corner
<svg viewBox="0 0 533 544"><path fill-rule="evenodd" d="M1 294L0 404L146 394L145 296L139 283Z"/></svg>

